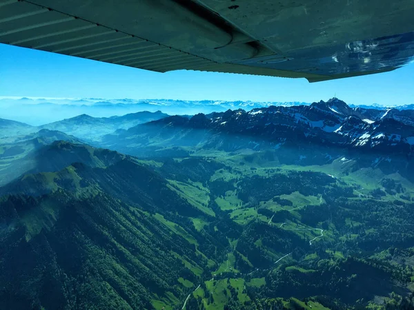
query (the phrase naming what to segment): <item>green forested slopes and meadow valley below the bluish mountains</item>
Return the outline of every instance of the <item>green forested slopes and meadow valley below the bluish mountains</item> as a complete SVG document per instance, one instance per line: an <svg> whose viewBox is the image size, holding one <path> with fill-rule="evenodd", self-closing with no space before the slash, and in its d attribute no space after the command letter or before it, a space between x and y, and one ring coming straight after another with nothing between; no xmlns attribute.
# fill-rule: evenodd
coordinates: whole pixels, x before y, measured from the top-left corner
<svg viewBox="0 0 414 310"><path fill-rule="evenodd" d="M188 150L143 160L57 141L30 154L0 187L0 308L411 309L403 173Z"/></svg>

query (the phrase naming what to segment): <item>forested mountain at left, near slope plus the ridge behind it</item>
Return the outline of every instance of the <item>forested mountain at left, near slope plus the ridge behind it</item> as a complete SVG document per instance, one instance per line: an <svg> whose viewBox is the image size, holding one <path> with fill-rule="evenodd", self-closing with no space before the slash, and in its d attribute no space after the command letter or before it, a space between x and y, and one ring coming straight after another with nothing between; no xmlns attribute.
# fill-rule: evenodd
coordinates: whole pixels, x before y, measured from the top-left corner
<svg viewBox="0 0 414 310"><path fill-rule="evenodd" d="M2 309L176 304L188 290L179 279L197 283L209 264L198 243L217 252L167 220L201 211L128 158L28 174L1 192Z"/></svg>

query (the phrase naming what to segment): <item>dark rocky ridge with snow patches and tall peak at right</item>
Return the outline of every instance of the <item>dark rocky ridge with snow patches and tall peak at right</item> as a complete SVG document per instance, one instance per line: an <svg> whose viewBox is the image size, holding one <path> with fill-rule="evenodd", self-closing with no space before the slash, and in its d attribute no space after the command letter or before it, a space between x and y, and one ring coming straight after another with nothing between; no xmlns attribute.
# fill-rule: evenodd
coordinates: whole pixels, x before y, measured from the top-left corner
<svg viewBox="0 0 414 310"><path fill-rule="evenodd" d="M236 143L237 141L237 143ZM104 136L101 146L139 154L139 148L185 147L235 151L320 145L413 155L414 111L349 107L339 99L294 107L262 107L170 116Z"/></svg>

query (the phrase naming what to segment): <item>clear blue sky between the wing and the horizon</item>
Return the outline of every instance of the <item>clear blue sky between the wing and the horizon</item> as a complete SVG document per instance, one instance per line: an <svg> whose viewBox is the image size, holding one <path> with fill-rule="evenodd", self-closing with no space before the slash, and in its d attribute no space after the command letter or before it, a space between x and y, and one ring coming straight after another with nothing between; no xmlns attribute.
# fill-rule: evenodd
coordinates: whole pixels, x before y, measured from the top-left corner
<svg viewBox="0 0 414 310"><path fill-rule="evenodd" d="M414 63L393 72L319 83L177 71L164 74L0 44L0 96L225 101L414 103Z"/></svg>

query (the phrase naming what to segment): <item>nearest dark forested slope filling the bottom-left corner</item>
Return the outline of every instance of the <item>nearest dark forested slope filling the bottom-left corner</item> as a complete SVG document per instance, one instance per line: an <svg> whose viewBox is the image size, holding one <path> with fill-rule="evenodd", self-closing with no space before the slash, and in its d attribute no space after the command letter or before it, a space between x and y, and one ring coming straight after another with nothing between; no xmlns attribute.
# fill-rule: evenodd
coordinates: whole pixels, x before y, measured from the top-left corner
<svg viewBox="0 0 414 310"><path fill-rule="evenodd" d="M1 209L15 215L2 216L2 309L152 309L181 297L178 278L195 278L177 256L204 265L187 240L102 193L12 196Z"/></svg>

